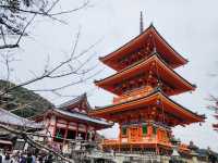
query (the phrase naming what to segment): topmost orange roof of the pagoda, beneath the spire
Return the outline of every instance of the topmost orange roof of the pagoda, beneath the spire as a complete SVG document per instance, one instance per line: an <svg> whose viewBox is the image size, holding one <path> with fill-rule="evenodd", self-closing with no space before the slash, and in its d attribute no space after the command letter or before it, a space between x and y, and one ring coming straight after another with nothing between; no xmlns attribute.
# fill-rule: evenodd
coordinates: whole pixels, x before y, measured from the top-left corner
<svg viewBox="0 0 218 163"><path fill-rule="evenodd" d="M133 38L131 41L126 42L124 46L109 53L108 55L99 58L99 60L108 66L112 67L113 70L120 71L118 60L142 47L145 39L149 35L154 37L154 43L160 57L164 60L167 60L173 68L187 63L187 60L180 55L164 39L164 37L157 32L153 24L150 24L150 26L137 37Z"/></svg>

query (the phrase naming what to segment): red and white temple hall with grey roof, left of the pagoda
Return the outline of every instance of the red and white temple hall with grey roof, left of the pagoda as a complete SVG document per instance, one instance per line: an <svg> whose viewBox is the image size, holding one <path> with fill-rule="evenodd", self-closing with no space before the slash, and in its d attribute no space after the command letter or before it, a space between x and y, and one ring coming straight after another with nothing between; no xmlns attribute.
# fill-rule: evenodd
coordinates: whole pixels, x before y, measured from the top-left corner
<svg viewBox="0 0 218 163"><path fill-rule="evenodd" d="M60 150L70 140L95 140L96 130L111 127L111 124L101 118L88 116L92 110L86 93L64 102L59 106L35 116L36 122L44 122L44 134L48 135L49 145Z"/></svg>

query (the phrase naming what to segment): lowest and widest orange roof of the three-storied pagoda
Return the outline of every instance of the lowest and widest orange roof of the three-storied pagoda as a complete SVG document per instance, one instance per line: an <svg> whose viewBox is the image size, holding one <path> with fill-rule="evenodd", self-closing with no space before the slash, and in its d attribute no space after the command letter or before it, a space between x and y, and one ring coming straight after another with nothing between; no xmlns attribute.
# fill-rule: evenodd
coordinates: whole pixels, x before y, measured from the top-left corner
<svg viewBox="0 0 218 163"><path fill-rule="evenodd" d="M111 104L104 108L97 108L96 110L93 110L89 113L89 115L110 120L110 117L116 114L122 115L122 113L128 111L133 111L133 110L142 111L146 109L146 106L156 105L157 100L160 100L160 103L162 104L166 113L172 114L174 115L174 117L178 117L183 121L181 122L181 125L204 122L205 120L204 115L198 115L197 113L194 113L185 109L181 104L168 98L161 90L158 89L138 99L134 99L122 103Z"/></svg>

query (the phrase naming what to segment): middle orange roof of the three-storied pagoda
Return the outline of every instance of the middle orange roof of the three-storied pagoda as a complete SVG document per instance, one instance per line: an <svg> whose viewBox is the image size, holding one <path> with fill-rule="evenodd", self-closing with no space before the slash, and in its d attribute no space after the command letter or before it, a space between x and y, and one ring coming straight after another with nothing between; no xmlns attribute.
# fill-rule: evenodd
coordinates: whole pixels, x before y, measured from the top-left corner
<svg viewBox="0 0 218 163"><path fill-rule="evenodd" d="M150 55L148 59L142 60L134 65L131 65L105 79L96 80L95 84L108 91L116 95L121 95L114 90L114 85L120 84L123 80L149 71L152 63L156 63L154 73L157 77L166 83L169 87L172 87L174 91L171 95L181 93L184 91L190 91L195 89L195 85L192 85L177 72L170 68L167 63L161 60L158 53ZM158 78L157 78L158 79Z"/></svg>

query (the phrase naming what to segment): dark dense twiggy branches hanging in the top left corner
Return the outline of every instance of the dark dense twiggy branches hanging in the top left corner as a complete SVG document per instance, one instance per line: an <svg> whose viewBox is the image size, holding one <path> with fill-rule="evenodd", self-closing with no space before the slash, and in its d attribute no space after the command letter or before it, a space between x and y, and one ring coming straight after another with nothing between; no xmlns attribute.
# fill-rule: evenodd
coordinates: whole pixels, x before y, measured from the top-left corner
<svg viewBox="0 0 218 163"><path fill-rule="evenodd" d="M19 48L23 36L26 36L26 29L34 22L36 16L49 17L59 21L57 16L73 13L86 8L88 0L82 2L80 7L53 12L61 0L1 0L0 1L0 49ZM13 38L12 38L13 36Z"/></svg>

